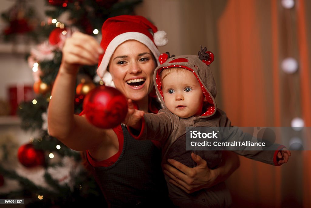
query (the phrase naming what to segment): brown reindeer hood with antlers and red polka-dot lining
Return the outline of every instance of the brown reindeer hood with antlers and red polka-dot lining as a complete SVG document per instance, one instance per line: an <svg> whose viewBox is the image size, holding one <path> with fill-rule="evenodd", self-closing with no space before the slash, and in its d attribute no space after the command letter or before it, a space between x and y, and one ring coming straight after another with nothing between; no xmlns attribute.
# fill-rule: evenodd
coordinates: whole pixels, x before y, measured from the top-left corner
<svg viewBox="0 0 311 208"><path fill-rule="evenodd" d="M207 51L206 47L201 47L201 51L198 52L198 56L182 55L169 57L169 53L161 54L159 57L159 62L161 65L156 68L153 81L156 86L156 92L160 97L163 106L166 108L162 92L162 82L160 78L161 71L173 67L183 68L193 72L193 75L196 76L202 88L202 92L207 100L201 116L207 118L214 115L216 112L216 83L209 66L213 60L213 53Z"/></svg>

